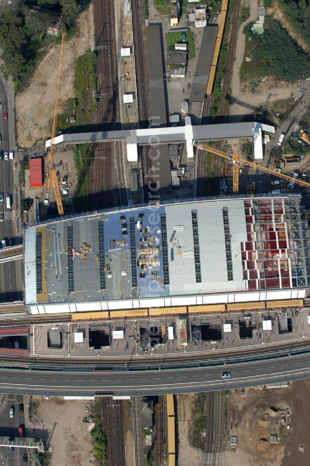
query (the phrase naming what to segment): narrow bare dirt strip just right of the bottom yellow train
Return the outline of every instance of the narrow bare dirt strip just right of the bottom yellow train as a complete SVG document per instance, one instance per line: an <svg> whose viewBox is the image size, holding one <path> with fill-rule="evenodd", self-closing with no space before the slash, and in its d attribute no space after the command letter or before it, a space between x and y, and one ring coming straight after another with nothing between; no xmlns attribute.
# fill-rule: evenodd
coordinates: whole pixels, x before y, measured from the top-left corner
<svg viewBox="0 0 310 466"><path fill-rule="evenodd" d="M189 444L187 421L191 419L191 407L193 405L194 393L177 395L178 406L178 465L179 466L205 466L207 453L201 452Z"/></svg>

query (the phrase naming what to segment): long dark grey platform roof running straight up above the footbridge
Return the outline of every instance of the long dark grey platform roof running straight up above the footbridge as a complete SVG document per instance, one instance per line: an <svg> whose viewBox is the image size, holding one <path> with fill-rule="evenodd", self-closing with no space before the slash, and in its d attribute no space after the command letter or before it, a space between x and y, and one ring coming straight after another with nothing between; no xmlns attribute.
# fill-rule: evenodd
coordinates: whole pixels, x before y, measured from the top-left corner
<svg viewBox="0 0 310 466"><path fill-rule="evenodd" d="M159 26L146 27L146 44L152 118L155 124L164 125L167 124L167 110Z"/></svg>

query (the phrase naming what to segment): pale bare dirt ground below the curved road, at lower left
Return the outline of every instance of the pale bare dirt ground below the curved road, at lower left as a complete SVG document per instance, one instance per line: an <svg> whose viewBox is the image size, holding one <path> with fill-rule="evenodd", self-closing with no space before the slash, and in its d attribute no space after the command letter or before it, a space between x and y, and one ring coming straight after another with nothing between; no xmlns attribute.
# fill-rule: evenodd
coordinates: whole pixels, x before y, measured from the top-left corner
<svg viewBox="0 0 310 466"><path fill-rule="evenodd" d="M51 434L49 452L52 453L50 466L79 466L93 461L93 448L90 430L93 424L83 423L87 400L64 400L61 397L32 397L37 404L38 423L28 419L26 408L26 428L48 429ZM28 400L25 398L25 402ZM40 424L43 420L42 425ZM95 463L94 463L95 464Z"/></svg>

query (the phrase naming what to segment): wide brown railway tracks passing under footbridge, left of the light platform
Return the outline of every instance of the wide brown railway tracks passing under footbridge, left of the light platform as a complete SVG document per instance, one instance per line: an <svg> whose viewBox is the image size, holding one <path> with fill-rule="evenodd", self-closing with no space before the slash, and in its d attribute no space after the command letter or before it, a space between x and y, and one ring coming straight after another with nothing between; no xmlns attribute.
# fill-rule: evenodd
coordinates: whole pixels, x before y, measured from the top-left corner
<svg viewBox="0 0 310 466"><path fill-rule="evenodd" d="M120 103L118 95L117 46L113 0L95 1L95 43L97 76L97 130L120 129ZM114 164L114 156L117 164ZM126 206L122 144L102 142L96 144L93 166L92 209L107 208L115 204L113 173L118 171L120 204ZM119 203L117 203L119 204Z"/></svg>

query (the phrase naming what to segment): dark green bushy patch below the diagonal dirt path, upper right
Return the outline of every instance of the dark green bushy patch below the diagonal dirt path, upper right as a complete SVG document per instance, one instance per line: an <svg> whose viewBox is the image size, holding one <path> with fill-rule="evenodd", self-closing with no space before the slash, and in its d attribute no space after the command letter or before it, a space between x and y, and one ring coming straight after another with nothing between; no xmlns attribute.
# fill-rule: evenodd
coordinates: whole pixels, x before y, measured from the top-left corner
<svg viewBox="0 0 310 466"><path fill-rule="evenodd" d="M251 31L252 23L244 29L247 36L245 56L250 55L251 62L243 61L240 79L255 89L265 76L273 76L276 81L295 82L310 75L308 55L298 46L279 21L266 16L262 35Z"/></svg>

